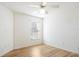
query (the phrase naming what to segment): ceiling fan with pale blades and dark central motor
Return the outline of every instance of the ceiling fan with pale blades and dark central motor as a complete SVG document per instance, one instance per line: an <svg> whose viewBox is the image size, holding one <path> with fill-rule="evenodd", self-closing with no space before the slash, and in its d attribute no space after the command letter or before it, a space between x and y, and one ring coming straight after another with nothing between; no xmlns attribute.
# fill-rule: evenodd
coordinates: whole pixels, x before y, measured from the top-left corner
<svg viewBox="0 0 79 59"><path fill-rule="evenodd" d="M40 10L42 9L43 12L45 12L46 14L48 13L48 11L46 9L47 7L49 7L49 8L59 8L59 5L58 4L48 5L47 2L41 2L38 5L27 5L27 6L33 7L33 8L38 8Z"/></svg>

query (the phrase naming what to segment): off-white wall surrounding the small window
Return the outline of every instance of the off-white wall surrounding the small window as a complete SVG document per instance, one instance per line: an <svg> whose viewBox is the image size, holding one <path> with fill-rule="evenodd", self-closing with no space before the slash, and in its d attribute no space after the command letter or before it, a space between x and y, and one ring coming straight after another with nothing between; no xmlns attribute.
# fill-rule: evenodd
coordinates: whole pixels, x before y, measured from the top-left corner
<svg viewBox="0 0 79 59"><path fill-rule="evenodd" d="M22 13L15 13L15 49L42 43L42 32L39 35L40 39L31 40L32 21L42 22L42 19Z"/></svg>

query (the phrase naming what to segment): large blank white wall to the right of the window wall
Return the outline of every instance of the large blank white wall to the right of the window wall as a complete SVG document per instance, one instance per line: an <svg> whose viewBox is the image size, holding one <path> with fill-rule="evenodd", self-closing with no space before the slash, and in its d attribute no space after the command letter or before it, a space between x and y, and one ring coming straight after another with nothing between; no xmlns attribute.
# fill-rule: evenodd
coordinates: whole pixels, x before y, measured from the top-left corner
<svg viewBox="0 0 79 59"><path fill-rule="evenodd" d="M79 51L79 3L58 3L44 19L44 41L51 46Z"/></svg>

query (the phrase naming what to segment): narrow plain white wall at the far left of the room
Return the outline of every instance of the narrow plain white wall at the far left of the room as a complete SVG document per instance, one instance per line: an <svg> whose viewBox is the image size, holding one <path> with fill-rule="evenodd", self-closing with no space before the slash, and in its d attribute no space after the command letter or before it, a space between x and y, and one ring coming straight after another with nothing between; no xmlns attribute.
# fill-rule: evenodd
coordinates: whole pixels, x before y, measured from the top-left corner
<svg viewBox="0 0 79 59"><path fill-rule="evenodd" d="M0 5L0 56L13 49L13 14Z"/></svg>

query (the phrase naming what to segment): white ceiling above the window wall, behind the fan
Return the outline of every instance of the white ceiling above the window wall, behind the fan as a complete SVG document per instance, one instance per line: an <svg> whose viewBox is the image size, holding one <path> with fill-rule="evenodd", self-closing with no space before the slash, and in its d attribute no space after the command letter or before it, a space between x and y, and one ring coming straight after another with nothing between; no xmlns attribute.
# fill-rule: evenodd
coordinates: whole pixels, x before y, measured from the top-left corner
<svg viewBox="0 0 79 59"><path fill-rule="evenodd" d="M36 17L43 17L43 15L40 13L40 7L36 8L29 6L40 6L41 2L1 2L0 4L8 7L9 9L15 12L25 13ZM48 3L47 5L53 7L53 5L56 4L58 3Z"/></svg>

